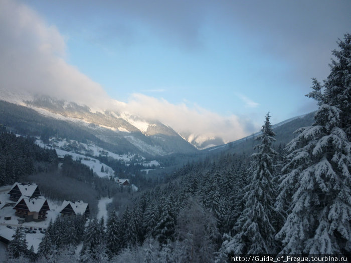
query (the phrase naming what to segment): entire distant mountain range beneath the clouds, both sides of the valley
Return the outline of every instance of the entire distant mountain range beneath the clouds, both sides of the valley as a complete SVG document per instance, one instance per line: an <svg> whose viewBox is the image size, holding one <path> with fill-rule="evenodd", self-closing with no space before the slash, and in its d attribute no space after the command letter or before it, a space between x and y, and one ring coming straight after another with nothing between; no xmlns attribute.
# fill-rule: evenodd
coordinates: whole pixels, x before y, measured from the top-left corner
<svg viewBox="0 0 351 263"><path fill-rule="evenodd" d="M19 134L91 142L116 154L136 154L149 160L170 154L185 154L190 158L194 154L245 151L246 148L250 152L255 144L253 137L258 134L224 144L219 137L191 132L178 134L157 120L145 120L127 112L91 109L48 96L2 90L0 100L3 100L0 101L0 124ZM285 144L295 129L310 125L312 119L311 113L274 125L276 144Z"/></svg>

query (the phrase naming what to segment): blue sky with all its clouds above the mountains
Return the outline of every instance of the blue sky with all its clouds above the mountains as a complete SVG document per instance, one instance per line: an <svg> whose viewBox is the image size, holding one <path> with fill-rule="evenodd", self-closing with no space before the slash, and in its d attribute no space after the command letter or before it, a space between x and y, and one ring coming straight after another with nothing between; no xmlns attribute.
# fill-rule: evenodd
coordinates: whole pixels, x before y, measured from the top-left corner
<svg viewBox="0 0 351 263"><path fill-rule="evenodd" d="M226 142L316 110L351 31L345 1L0 0L7 89L158 119Z"/></svg>

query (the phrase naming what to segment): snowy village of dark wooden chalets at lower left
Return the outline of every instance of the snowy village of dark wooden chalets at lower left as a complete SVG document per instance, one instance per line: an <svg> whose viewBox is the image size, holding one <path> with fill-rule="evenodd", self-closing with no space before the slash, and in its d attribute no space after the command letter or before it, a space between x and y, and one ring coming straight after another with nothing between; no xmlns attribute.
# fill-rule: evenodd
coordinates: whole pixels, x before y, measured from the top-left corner
<svg viewBox="0 0 351 263"><path fill-rule="evenodd" d="M119 179L117 183L129 186L128 179ZM98 216L107 219L106 202L111 199L105 199L100 200ZM41 194L35 183L16 182L12 186L0 187L0 241L4 244L8 244L16 228L21 227L26 233L28 248L33 245L36 252L51 220L54 221L58 215L78 214L88 219L89 204L82 200L52 201Z"/></svg>

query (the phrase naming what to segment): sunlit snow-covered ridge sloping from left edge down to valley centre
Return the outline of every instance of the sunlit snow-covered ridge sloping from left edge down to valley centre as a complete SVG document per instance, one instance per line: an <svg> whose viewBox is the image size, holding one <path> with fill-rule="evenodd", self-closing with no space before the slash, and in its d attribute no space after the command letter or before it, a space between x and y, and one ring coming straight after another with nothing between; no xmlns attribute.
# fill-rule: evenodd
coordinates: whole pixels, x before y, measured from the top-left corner
<svg viewBox="0 0 351 263"><path fill-rule="evenodd" d="M172 153L196 153L197 149L171 127L157 120L145 120L127 112L91 110L86 105L48 96L4 90L0 99L35 110L51 119L84 129L101 141L115 145L119 153L162 156ZM55 131L48 128L49 136ZM38 134L37 134L38 135ZM72 139L72 138L67 138ZM122 147L121 147L122 146ZM123 149L123 150L122 150Z"/></svg>

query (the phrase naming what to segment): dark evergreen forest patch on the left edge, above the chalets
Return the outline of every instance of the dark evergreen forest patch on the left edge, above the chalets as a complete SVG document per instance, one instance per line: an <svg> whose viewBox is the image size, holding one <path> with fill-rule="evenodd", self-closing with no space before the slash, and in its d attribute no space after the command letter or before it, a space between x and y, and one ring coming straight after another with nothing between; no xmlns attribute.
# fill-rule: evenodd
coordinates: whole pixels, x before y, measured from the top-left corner
<svg viewBox="0 0 351 263"><path fill-rule="evenodd" d="M0 186L13 184L19 177L56 169L58 157L53 149L43 149L34 138L0 133Z"/></svg>

